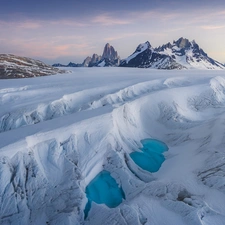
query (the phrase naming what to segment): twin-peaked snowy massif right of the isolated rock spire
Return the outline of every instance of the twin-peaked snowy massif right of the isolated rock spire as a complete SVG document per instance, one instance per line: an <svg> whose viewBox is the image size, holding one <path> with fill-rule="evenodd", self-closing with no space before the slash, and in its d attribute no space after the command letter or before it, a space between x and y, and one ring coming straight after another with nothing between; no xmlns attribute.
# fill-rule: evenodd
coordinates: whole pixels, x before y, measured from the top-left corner
<svg viewBox="0 0 225 225"><path fill-rule="evenodd" d="M157 69L225 69L224 65L208 57L195 41L180 38L153 48L147 41L121 61L122 67Z"/></svg>

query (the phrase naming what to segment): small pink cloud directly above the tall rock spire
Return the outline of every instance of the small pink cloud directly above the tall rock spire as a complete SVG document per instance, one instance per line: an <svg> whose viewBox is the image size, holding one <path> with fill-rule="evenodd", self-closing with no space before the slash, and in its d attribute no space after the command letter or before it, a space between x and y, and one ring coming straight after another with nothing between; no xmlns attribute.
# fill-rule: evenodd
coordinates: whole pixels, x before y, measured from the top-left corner
<svg viewBox="0 0 225 225"><path fill-rule="evenodd" d="M102 15L98 15L96 17L94 17L91 20L92 23L97 23L99 25L103 25L103 26L113 26L113 25L126 25L126 24L130 24L131 20L126 20L126 19L118 19L116 17L113 16L109 16L107 14L102 14Z"/></svg>

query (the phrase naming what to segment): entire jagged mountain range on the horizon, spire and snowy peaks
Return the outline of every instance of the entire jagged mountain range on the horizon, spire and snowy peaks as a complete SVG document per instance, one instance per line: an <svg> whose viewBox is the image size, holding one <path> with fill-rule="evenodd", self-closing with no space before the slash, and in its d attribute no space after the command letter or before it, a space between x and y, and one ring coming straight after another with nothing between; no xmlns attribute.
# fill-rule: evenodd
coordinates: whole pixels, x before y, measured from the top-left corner
<svg viewBox="0 0 225 225"><path fill-rule="evenodd" d="M127 58L120 60L114 47L107 43L102 56L93 54L83 63L69 63L68 65L53 64L53 66L67 67L137 67L155 69L225 69L222 63L210 58L193 40L179 38L172 43L153 48L149 41L139 44L136 50Z"/></svg>

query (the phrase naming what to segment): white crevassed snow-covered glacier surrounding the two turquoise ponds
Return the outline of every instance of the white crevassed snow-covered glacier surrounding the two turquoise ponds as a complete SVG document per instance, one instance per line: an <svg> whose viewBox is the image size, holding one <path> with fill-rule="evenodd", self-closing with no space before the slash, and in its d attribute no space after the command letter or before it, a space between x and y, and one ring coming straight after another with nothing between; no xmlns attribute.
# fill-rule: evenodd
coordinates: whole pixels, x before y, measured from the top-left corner
<svg viewBox="0 0 225 225"><path fill-rule="evenodd" d="M73 68L0 82L0 224L224 225L225 74ZM156 173L130 153L169 147ZM106 170L116 208L85 188Z"/></svg>

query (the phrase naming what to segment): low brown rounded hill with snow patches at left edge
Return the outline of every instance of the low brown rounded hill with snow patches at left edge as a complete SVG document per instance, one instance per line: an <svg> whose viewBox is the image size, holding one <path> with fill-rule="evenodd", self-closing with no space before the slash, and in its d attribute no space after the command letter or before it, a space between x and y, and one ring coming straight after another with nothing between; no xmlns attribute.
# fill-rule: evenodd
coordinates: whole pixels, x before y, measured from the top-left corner
<svg viewBox="0 0 225 225"><path fill-rule="evenodd" d="M25 78L65 73L39 60L11 54L0 54L0 79Z"/></svg>

